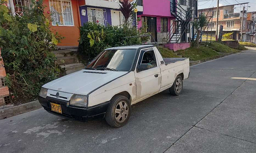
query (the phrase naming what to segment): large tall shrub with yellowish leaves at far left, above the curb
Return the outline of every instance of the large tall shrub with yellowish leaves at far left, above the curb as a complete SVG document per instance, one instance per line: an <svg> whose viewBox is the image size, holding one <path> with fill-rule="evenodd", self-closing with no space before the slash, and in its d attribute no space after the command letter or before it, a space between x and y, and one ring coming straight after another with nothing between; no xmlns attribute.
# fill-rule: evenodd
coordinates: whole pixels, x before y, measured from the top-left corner
<svg viewBox="0 0 256 153"><path fill-rule="evenodd" d="M24 15L10 16L0 4L0 47L10 91L18 100L35 98L43 84L58 75L52 53L59 37L49 30L49 19L43 14L43 1L23 9ZM16 99L16 100L17 100Z"/></svg>

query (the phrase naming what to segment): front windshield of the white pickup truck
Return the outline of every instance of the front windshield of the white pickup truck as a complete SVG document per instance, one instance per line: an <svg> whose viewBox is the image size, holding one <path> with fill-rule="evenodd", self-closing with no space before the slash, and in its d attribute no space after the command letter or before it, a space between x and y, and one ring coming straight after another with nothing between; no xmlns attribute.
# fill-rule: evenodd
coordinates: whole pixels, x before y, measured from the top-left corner
<svg viewBox="0 0 256 153"><path fill-rule="evenodd" d="M129 71L136 54L136 49L106 50L87 68L98 70Z"/></svg>

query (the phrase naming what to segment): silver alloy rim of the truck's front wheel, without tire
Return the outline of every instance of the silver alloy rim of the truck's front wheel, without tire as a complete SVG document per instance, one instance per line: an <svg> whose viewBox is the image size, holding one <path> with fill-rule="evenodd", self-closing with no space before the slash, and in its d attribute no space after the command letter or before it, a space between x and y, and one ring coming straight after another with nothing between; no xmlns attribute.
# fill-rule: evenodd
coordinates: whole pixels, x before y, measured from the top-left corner
<svg viewBox="0 0 256 153"><path fill-rule="evenodd" d="M129 113L129 108L126 101L120 101L115 108L116 121L119 123L124 122L128 117L128 113Z"/></svg>

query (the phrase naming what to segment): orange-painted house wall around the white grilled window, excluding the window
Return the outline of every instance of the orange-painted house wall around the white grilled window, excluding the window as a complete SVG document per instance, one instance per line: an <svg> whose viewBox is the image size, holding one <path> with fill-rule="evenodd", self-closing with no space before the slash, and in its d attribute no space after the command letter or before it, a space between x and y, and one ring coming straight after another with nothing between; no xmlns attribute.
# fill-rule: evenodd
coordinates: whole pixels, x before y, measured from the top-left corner
<svg viewBox="0 0 256 153"><path fill-rule="evenodd" d="M51 26L51 31L53 33L59 33L62 37L65 37L57 46L78 46L78 40L80 37L79 27L80 27L80 16L77 0L71 0L72 12L74 18L74 26ZM49 0L44 0L44 12L46 16L49 16L46 12L50 12Z"/></svg>

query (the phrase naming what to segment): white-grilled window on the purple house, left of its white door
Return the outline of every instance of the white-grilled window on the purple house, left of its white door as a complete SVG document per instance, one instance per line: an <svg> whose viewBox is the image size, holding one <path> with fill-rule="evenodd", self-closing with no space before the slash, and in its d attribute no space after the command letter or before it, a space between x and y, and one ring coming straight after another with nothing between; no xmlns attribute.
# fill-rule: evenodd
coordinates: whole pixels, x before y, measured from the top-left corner
<svg viewBox="0 0 256 153"><path fill-rule="evenodd" d="M107 13L105 9L87 8L88 22L107 26Z"/></svg>

